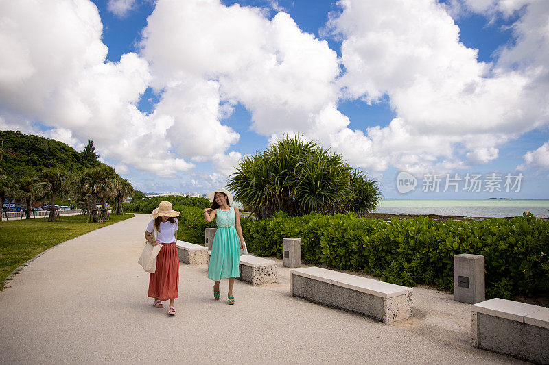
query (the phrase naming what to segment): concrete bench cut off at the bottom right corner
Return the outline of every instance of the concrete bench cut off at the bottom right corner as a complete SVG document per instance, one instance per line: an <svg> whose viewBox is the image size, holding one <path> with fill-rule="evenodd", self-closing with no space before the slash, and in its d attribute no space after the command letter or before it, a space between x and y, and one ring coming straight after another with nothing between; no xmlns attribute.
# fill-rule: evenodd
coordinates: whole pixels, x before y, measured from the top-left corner
<svg viewBox="0 0 549 365"><path fill-rule="evenodd" d="M494 298L471 305L473 347L549 364L549 308Z"/></svg>

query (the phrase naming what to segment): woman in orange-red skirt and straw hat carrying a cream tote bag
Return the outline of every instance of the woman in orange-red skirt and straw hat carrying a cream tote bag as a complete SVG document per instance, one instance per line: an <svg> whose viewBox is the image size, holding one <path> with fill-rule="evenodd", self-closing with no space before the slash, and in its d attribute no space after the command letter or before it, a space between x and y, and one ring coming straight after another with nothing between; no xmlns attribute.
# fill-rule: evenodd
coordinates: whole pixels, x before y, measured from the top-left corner
<svg viewBox="0 0 549 365"><path fill-rule="evenodd" d="M152 211L152 220L147 225L145 240L156 246L161 244L156 256L156 272L150 273L149 294L154 298L154 307L163 308L162 301L170 300L167 314L176 314L174 300L179 297L179 257L176 249L179 223L176 216L179 212L172 210L172 203L161 201L159 207ZM156 240L153 231L156 229Z"/></svg>

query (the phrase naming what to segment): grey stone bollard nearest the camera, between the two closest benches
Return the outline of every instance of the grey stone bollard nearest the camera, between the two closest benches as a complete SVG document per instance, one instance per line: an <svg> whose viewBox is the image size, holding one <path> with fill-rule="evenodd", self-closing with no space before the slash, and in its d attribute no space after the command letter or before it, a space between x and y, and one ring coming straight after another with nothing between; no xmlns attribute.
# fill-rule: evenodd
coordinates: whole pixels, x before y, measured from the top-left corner
<svg viewBox="0 0 549 365"><path fill-rule="evenodd" d="M484 294L484 256L455 255L454 301L476 304L486 299Z"/></svg>

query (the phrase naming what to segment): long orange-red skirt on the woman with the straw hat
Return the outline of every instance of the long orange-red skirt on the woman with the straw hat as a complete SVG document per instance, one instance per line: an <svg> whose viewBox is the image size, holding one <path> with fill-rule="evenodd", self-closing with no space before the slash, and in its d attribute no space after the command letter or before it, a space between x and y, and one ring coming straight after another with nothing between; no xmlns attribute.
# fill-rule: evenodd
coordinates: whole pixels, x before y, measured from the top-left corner
<svg viewBox="0 0 549 365"><path fill-rule="evenodd" d="M156 256L156 272L150 273L149 297L161 301L179 297L179 256L176 244L162 244Z"/></svg>

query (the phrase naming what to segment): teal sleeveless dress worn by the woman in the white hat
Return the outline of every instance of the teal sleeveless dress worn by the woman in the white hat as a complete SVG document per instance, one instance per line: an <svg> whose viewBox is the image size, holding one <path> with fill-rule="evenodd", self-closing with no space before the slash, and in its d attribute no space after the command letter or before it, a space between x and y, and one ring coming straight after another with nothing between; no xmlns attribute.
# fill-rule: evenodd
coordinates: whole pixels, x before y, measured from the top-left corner
<svg viewBox="0 0 549 365"><path fill-rule="evenodd" d="M240 277L240 239L235 228L235 209L217 209L218 230L211 245L208 279L219 281L229 277Z"/></svg>

